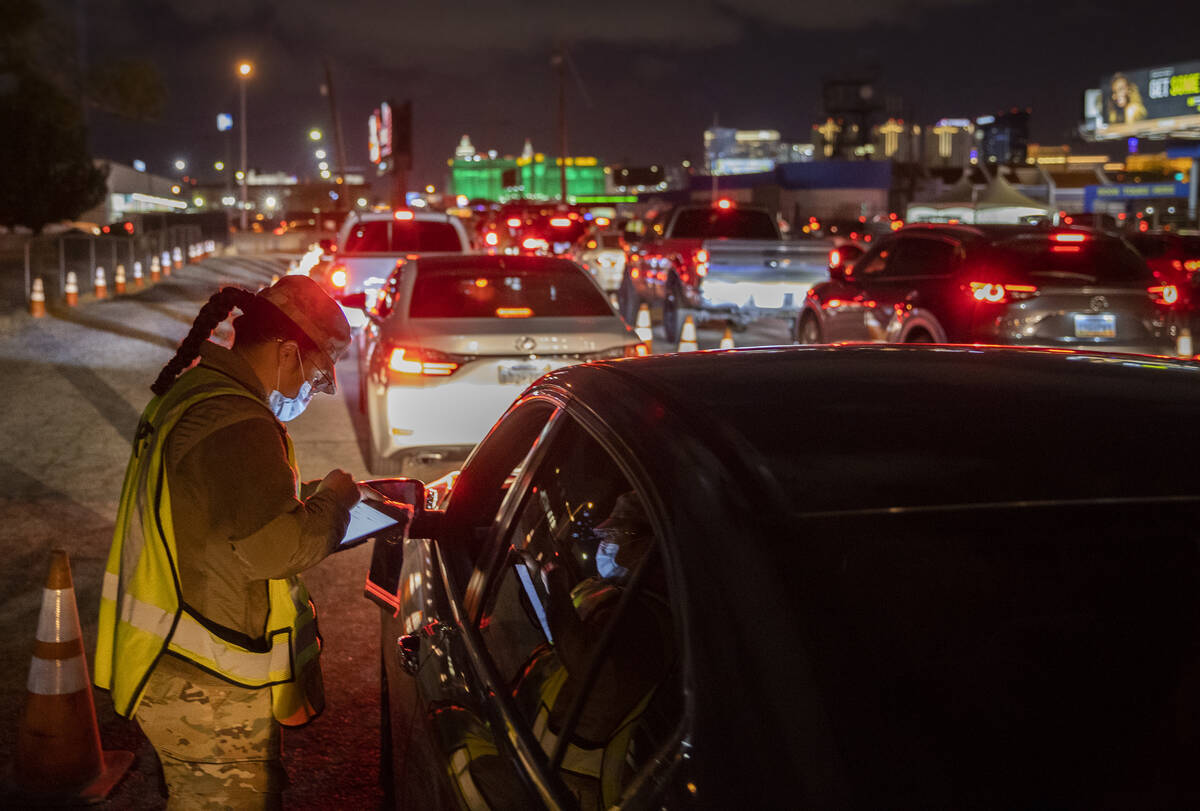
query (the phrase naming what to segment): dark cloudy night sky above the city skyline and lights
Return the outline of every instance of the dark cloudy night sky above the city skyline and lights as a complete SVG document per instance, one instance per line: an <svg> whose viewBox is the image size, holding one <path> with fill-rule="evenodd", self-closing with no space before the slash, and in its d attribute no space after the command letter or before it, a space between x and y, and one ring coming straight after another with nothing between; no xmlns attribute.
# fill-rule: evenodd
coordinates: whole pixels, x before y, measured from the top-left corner
<svg viewBox="0 0 1200 811"><path fill-rule="evenodd" d="M480 150L517 154L526 137L556 150L553 43L568 43L575 155L607 163L702 158L702 131L780 130L809 140L821 80L877 71L884 96L918 122L1033 109L1033 138L1063 143L1082 91L1122 68L1200 59L1200 4L1079 0L46 0L96 64L142 56L169 91L157 124L91 115L97 155L202 176L232 157L216 132L236 112L234 64L248 85L250 164L316 174L310 127L330 131L320 95L334 70L350 166L367 166L366 119L379 101L414 103L410 186L445 180L469 133ZM74 54L68 54L68 61ZM228 133L226 133L228 134Z"/></svg>

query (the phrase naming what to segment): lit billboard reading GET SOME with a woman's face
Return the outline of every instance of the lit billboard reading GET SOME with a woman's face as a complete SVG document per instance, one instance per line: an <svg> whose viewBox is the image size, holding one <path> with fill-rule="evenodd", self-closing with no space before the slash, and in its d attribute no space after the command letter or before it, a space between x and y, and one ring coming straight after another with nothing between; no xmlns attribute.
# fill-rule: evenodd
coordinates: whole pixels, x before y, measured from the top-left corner
<svg viewBox="0 0 1200 811"><path fill-rule="evenodd" d="M1200 137L1200 61L1106 76L1085 107L1084 128L1098 139Z"/></svg>

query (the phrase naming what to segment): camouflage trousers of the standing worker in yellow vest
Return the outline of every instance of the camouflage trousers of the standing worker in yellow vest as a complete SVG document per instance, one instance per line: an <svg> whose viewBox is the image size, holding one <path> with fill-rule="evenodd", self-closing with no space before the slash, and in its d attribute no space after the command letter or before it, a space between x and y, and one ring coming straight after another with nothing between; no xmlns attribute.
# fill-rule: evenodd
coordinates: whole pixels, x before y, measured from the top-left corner
<svg viewBox="0 0 1200 811"><path fill-rule="evenodd" d="M287 775L270 690L163 656L134 717L162 763L168 811L282 807Z"/></svg>

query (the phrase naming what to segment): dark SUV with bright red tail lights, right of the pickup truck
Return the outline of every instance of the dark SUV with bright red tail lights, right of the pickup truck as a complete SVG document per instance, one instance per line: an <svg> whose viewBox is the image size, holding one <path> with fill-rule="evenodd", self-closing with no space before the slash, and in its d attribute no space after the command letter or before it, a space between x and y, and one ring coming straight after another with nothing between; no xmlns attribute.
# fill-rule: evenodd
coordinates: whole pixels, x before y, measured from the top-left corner
<svg viewBox="0 0 1200 811"><path fill-rule="evenodd" d="M1026 226L908 226L832 268L798 343L991 343L1175 354L1181 290L1118 236Z"/></svg>

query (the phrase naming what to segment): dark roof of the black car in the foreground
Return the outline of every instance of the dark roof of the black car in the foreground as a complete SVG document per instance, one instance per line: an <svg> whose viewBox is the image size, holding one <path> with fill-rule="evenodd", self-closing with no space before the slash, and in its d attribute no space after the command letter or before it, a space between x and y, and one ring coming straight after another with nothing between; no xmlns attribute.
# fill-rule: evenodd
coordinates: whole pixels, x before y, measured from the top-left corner
<svg viewBox="0 0 1200 811"><path fill-rule="evenodd" d="M613 373L629 394L614 392ZM640 390L703 441L715 426L731 429L732 446L755 449L802 512L1200 492L1190 465L1200 365L1165 358L773 347L610 361L551 379L601 414L644 413Z"/></svg>

